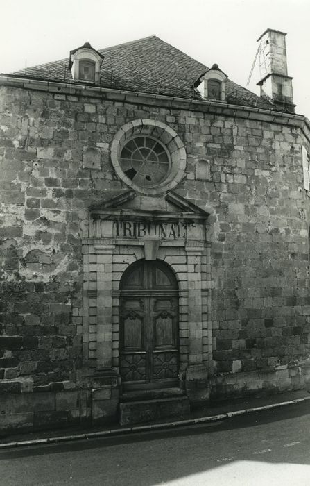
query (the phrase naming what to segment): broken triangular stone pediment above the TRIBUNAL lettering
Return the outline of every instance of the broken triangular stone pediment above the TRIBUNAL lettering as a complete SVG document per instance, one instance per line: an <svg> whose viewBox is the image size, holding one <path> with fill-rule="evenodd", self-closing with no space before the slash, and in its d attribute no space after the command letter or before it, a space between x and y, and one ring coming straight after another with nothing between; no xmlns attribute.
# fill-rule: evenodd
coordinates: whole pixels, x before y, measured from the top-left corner
<svg viewBox="0 0 310 486"><path fill-rule="evenodd" d="M133 190L125 190L107 197L96 206L92 206L90 215L94 219L114 219L115 217L168 218L206 220L209 212L191 203L174 191L162 197L140 196Z"/></svg>

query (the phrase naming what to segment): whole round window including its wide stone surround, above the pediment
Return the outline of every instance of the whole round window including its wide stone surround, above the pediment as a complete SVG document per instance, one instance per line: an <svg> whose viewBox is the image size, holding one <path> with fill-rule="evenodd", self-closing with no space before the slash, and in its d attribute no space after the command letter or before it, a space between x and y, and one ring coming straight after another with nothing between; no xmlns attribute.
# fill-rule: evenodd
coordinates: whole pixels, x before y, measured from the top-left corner
<svg viewBox="0 0 310 486"><path fill-rule="evenodd" d="M186 158L178 133L157 120L128 121L111 144L117 176L132 190L150 196L163 194L182 181Z"/></svg>

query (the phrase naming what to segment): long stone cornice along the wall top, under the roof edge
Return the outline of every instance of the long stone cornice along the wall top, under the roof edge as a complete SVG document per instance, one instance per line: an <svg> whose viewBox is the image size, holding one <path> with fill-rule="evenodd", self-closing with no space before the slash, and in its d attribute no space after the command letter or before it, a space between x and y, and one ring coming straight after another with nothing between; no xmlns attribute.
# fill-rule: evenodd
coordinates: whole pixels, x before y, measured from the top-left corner
<svg viewBox="0 0 310 486"><path fill-rule="evenodd" d="M198 100L189 98L169 97L162 94L113 90L111 88L43 81L15 76L0 76L0 85L17 87L26 90L37 90L67 96L83 96L123 101L126 103L145 104L149 106L163 106L166 108L208 112L214 115L266 121L285 126L295 126L302 130L310 142L310 121L304 115L266 110L250 106L239 106L223 101Z"/></svg>

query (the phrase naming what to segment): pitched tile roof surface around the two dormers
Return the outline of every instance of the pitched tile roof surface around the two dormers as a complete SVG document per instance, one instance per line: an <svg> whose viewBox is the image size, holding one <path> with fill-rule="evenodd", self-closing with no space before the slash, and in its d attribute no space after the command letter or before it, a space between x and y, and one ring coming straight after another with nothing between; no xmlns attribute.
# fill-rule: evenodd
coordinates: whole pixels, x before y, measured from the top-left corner
<svg viewBox="0 0 310 486"><path fill-rule="evenodd" d="M155 35L100 49L105 56L101 66L101 86L164 94L181 98L197 98L193 88L207 66L187 56ZM27 78L74 83L67 69L68 59L27 67ZM25 77L24 69L11 73ZM227 102L275 110L275 106L256 94L227 81Z"/></svg>

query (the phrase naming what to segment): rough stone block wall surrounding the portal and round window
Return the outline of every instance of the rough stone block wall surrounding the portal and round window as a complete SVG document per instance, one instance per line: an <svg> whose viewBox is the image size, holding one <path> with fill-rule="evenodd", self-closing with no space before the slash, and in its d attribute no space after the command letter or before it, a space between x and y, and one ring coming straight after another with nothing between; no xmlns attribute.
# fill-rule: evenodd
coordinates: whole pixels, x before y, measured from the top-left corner
<svg viewBox="0 0 310 486"><path fill-rule="evenodd" d="M309 199L298 128L98 97L0 93L0 393L84 383L92 364L82 360L81 239L89 206L126 188L110 143L139 118L180 135L187 178L176 191L212 212L214 393L248 386L237 378L227 385L225 374L275 371L308 357ZM83 162L87 147L97 149L94 169Z"/></svg>

